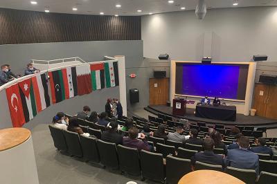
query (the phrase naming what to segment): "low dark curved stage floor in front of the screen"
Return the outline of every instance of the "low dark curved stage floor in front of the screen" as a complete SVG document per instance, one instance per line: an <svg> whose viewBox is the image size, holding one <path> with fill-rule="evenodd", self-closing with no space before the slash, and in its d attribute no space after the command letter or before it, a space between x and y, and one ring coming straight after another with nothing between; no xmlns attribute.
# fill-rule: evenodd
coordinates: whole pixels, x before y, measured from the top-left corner
<svg viewBox="0 0 277 184"><path fill-rule="evenodd" d="M255 127L267 127L267 129L273 129L277 127L277 120L272 120L268 118L264 118L261 116L244 116L243 114L237 113L237 118L235 121L222 121L222 120L211 120L207 118L198 118L195 116L195 109L186 109L185 116L173 116L172 115L172 107L168 107L166 105L148 105L148 107L144 108L146 111L150 113L158 114L166 114L168 116L172 116L175 118L184 118L190 121L200 121L206 122L208 124L222 124L222 125L242 125L242 126L255 126Z"/></svg>

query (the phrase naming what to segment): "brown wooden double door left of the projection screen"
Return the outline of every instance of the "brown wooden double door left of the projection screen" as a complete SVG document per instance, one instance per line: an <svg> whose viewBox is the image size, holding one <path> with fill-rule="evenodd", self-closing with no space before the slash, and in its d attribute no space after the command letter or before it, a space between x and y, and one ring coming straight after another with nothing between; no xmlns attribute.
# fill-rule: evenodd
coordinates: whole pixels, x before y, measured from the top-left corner
<svg viewBox="0 0 277 184"><path fill-rule="evenodd" d="M149 104L166 104L169 98L169 78L149 79Z"/></svg>

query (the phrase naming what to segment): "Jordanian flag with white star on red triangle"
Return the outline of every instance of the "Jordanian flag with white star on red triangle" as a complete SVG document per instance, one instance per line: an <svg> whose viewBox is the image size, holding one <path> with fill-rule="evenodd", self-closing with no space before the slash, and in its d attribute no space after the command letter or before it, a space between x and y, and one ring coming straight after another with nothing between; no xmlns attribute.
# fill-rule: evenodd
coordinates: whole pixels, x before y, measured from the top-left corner
<svg viewBox="0 0 277 184"><path fill-rule="evenodd" d="M37 107L35 104L35 94L33 91L32 81L29 78L19 82L18 85L25 122L29 122L34 118L34 116L37 115Z"/></svg>

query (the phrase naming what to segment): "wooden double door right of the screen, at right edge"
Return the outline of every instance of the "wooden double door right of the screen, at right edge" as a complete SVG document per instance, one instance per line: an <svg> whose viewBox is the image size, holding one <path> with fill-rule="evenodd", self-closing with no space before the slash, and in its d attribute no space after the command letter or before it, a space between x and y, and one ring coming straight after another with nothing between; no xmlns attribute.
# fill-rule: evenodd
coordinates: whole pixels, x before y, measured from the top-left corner
<svg viewBox="0 0 277 184"><path fill-rule="evenodd" d="M253 109L258 116L277 119L277 86L256 84Z"/></svg>

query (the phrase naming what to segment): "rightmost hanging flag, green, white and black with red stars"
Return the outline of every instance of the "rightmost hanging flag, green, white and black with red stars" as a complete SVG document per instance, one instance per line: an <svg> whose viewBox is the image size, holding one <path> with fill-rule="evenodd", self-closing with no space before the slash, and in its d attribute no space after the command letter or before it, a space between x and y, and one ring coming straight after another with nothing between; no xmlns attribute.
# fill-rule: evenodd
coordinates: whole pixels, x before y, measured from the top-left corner
<svg viewBox="0 0 277 184"><path fill-rule="evenodd" d="M105 78L106 87L114 87L119 85L118 80L118 63L117 62L105 62Z"/></svg>

